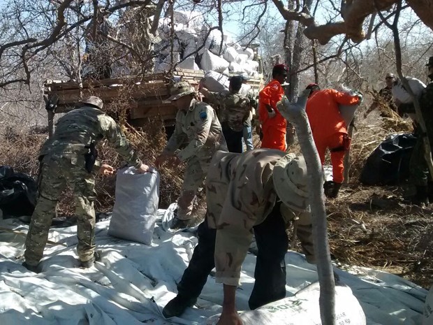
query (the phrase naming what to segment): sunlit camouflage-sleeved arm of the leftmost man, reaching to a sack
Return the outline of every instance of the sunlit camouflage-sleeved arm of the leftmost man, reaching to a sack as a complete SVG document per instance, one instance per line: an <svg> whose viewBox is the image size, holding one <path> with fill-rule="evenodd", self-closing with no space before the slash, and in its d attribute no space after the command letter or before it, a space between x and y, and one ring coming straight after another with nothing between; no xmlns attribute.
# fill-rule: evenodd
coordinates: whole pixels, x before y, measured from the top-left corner
<svg viewBox="0 0 433 325"><path fill-rule="evenodd" d="M118 154L120 154L129 164L135 168L140 168L142 161L138 158L132 149L126 136L120 129L119 125L106 114L101 115L99 120L100 132L104 138L107 138L113 145Z"/></svg>

